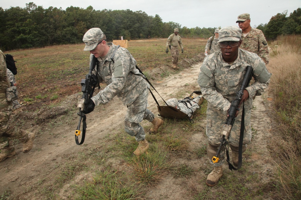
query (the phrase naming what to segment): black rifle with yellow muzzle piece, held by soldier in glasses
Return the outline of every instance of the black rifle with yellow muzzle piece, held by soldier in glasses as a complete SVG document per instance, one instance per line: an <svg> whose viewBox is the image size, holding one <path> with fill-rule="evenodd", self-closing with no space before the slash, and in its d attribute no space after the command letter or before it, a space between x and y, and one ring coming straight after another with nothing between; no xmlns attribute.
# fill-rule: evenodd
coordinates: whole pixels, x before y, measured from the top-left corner
<svg viewBox="0 0 301 200"><path fill-rule="evenodd" d="M221 140L220 140L221 143L219 145L219 149L216 153L216 156L213 156L213 158L212 158L213 163L217 163L219 161L219 153L220 153L222 147L224 145L226 145L226 142L228 140L228 137L230 135L231 129L232 129L234 121L235 121L236 112L239 111L239 103L240 103L240 100L242 99L242 96L244 95L244 89L250 83L251 73L252 73L252 67L247 66L246 74L244 76L244 80L241 84L240 90L236 92L236 98L235 98L235 100L232 101L231 106L228 110L228 115L229 116L226 120L226 123L222 126L222 131L221 131L222 137L221 137ZM244 124L241 123L241 126L244 127ZM242 138L240 138L240 140L241 140L240 146L242 146L243 135L242 135ZM228 154L227 154L227 158L228 158ZM239 169L240 167L241 167L241 154L240 154L240 162L238 164L237 169ZM231 169L232 168L235 169L233 166L231 167ZM230 169L230 166L229 166L229 169Z"/></svg>

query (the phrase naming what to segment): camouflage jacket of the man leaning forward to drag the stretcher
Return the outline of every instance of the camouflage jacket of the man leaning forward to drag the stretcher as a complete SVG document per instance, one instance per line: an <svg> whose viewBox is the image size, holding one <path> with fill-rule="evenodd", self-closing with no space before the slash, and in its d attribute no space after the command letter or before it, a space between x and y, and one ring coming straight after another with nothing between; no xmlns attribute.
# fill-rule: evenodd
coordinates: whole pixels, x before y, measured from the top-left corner
<svg viewBox="0 0 301 200"><path fill-rule="evenodd" d="M95 105L106 104L117 95L124 105L129 106L149 87L145 77L136 69L136 61L127 49L119 47L113 61L111 60L116 47L112 45L104 61L98 58L98 80L104 81L107 86L92 97ZM90 55L90 62L92 56L93 54ZM96 69L93 73L96 74Z"/></svg>

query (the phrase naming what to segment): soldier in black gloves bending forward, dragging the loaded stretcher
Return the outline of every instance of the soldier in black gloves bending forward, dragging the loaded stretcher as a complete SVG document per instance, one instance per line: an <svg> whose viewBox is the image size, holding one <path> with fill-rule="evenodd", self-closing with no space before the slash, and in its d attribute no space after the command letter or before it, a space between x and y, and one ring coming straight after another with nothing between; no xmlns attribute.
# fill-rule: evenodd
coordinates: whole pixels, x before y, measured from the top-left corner
<svg viewBox="0 0 301 200"><path fill-rule="evenodd" d="M90 51L92 57L99 61L98 69L93 70L95 79L104 81L107 86L98 94L85 102L86 112L94 110L94 106L106 104L117 96L127 107L125 117L125 131L135 136L138 148L133 152L135 155L143 154L149 147L145 139L143 127L139 124L143 119L150 121L153 127L150 133L157 132L163 124L163 120L155 118L154 114L147 109L147 97L149 85L136 68L136 61L129 51L112 43L106 42L106 36L100 28L89 29L83 39L84 51Z"/></svg>

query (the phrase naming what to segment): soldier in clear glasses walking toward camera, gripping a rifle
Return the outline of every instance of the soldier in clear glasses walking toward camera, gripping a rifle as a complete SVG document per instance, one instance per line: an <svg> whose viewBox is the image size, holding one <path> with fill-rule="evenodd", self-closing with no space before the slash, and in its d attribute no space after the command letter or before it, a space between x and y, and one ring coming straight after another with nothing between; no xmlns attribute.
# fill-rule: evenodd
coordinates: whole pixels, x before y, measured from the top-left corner
<svg viewBox="0 0 301 200"><path fill-rule="evenodd" d="M271 73L265 67L265 63L255 53L239 49L241 44L241 29L228 26L219 31L219 44L221 51L205 57L198 77L202 95L207 100L207 126L208 137L207 154L210 163L214 166L208 175L206 184L214 186L222 176L222 164L225 162L225 149L222 149L217 163L212 162L216 155L221 139L221 128L228 115L231 102L236 98L236 92L240 90L241 83L248 65L252 66L252 76L255 82L244 90L240 104L244 102L245 123L243 152L250 143L251 133L251 109L253 97L262 94L270 82ZM234 166L238 165L238 145L241 126L241 112L236 113L237 118L228 138L232 150Z"/></svg>

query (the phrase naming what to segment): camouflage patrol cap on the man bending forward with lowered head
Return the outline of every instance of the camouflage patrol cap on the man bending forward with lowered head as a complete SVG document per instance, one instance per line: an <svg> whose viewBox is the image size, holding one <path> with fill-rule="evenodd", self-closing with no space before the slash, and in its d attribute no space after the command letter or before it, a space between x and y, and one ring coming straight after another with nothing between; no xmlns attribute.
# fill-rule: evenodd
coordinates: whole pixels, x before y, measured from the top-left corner
<svg viewBox="0 0 301 200"><path fill-rule="evenodd" d="M100 28L91 28L89 29L82 38L82 41L85 43L84 51L91 51L95 49L95 47L98 45L98 42L101 40L106 40L106 36L101 31Z"/></svg>

